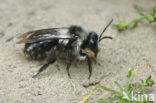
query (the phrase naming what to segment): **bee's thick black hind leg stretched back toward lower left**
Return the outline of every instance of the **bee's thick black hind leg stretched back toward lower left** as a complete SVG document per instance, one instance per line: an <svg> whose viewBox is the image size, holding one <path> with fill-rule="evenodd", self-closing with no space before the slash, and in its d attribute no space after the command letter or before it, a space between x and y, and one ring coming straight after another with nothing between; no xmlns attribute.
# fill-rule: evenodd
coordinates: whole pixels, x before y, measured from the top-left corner
<svg viewBox="0 0 156 103"><path fill-rule="evenodd" d="M48 66L49 64L52 64L56 61L56 51L57 51L57 48L54 47L50 53L50 56L47 60L47 63L44 64L39 70L38 70L38 73L36 75L33 76L33 78L36 78L42 71L44 71Z"/></svg>

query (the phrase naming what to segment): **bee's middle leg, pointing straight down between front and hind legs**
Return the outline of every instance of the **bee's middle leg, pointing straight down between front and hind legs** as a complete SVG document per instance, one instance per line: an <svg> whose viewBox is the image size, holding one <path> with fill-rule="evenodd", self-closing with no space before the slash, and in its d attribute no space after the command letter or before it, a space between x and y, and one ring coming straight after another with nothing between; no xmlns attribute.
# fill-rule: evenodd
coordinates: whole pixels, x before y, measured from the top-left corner
<svg viewBox="0 0 156 103"><path fill-rule="evenodd" d="M72 64L72 61L73 61L73 54L72 54L72 51L68 51L67 53L67 67L66 67L66 70L67 70L67 73L68 73L68 77L71 78L70 76L70 73L69 73L69 68Z"/></svg>

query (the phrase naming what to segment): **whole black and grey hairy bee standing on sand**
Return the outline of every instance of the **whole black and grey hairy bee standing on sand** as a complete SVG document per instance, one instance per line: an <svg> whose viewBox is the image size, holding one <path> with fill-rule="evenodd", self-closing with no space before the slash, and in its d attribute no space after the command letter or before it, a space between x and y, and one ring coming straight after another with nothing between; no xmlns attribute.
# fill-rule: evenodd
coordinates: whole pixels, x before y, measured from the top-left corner
<svg viewBox="0 0 156 103"><path fill-rule="evenodd" d="M97 57L100 50L100 42L105 38L112 39L109 36L103 37L103 33L112 21L113 19L107 24L100 35L89 31L83 26L48 28L24 33L18 37L21 40L17 43L25 43L24 53L32 59L38 60L47 56L46 63L33 78L36 78L50 64L53 64L62 54L67 60L66 70L69 78L71 78L69 68L75 59L87 61L90 78L92 74L92 61L85 50L90 50L94 53L95 58Z"/></svg>

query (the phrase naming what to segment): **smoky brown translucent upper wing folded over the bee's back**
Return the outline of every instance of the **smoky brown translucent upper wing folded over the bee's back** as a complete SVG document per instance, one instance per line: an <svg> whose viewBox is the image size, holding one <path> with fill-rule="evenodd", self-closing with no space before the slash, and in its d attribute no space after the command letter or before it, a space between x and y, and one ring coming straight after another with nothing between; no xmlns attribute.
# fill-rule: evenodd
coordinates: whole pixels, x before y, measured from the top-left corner
<svg viewBox="0 0 156 103"><path fill-rule="evenodd" d="M17 41L17 44L26 43L27 41L30 41L31 39L38 39L38 38L44 38L46 35L61 35L59 31L61 30L68 30L67 27L63 28L48 28L48 29L40 29L35 31L30 31L27 33L24 33L18 37L20 39Z"/></svg>

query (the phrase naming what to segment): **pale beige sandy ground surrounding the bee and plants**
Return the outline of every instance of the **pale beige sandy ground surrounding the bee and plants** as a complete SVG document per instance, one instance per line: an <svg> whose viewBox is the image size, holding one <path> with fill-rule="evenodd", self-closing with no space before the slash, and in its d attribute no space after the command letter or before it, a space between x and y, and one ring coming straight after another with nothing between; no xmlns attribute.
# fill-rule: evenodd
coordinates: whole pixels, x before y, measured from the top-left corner
<svg viewBox="0 0 156 103"><path fill-rule="evenodd" d="M149 75L156 80L155 24L142 23L122 33L110 27L105 35L114 39L102 42L90 80L85 63L72 65L69 79L66 64L59 61L33 79L44 61L27 60L24 45L16 44L17 35L24 32L71 24L100 33L112 18L117 23L138 17L134 5L150 12L155 4L155 0L0 0L0 103L80 103L95 87L84 84L103 77L100 84L117 89L113 82L124 84L130 68L138 69L136 81ZM156 86L150 93L156 94ZM98 90L88 103L110 96Z"/></svg>

